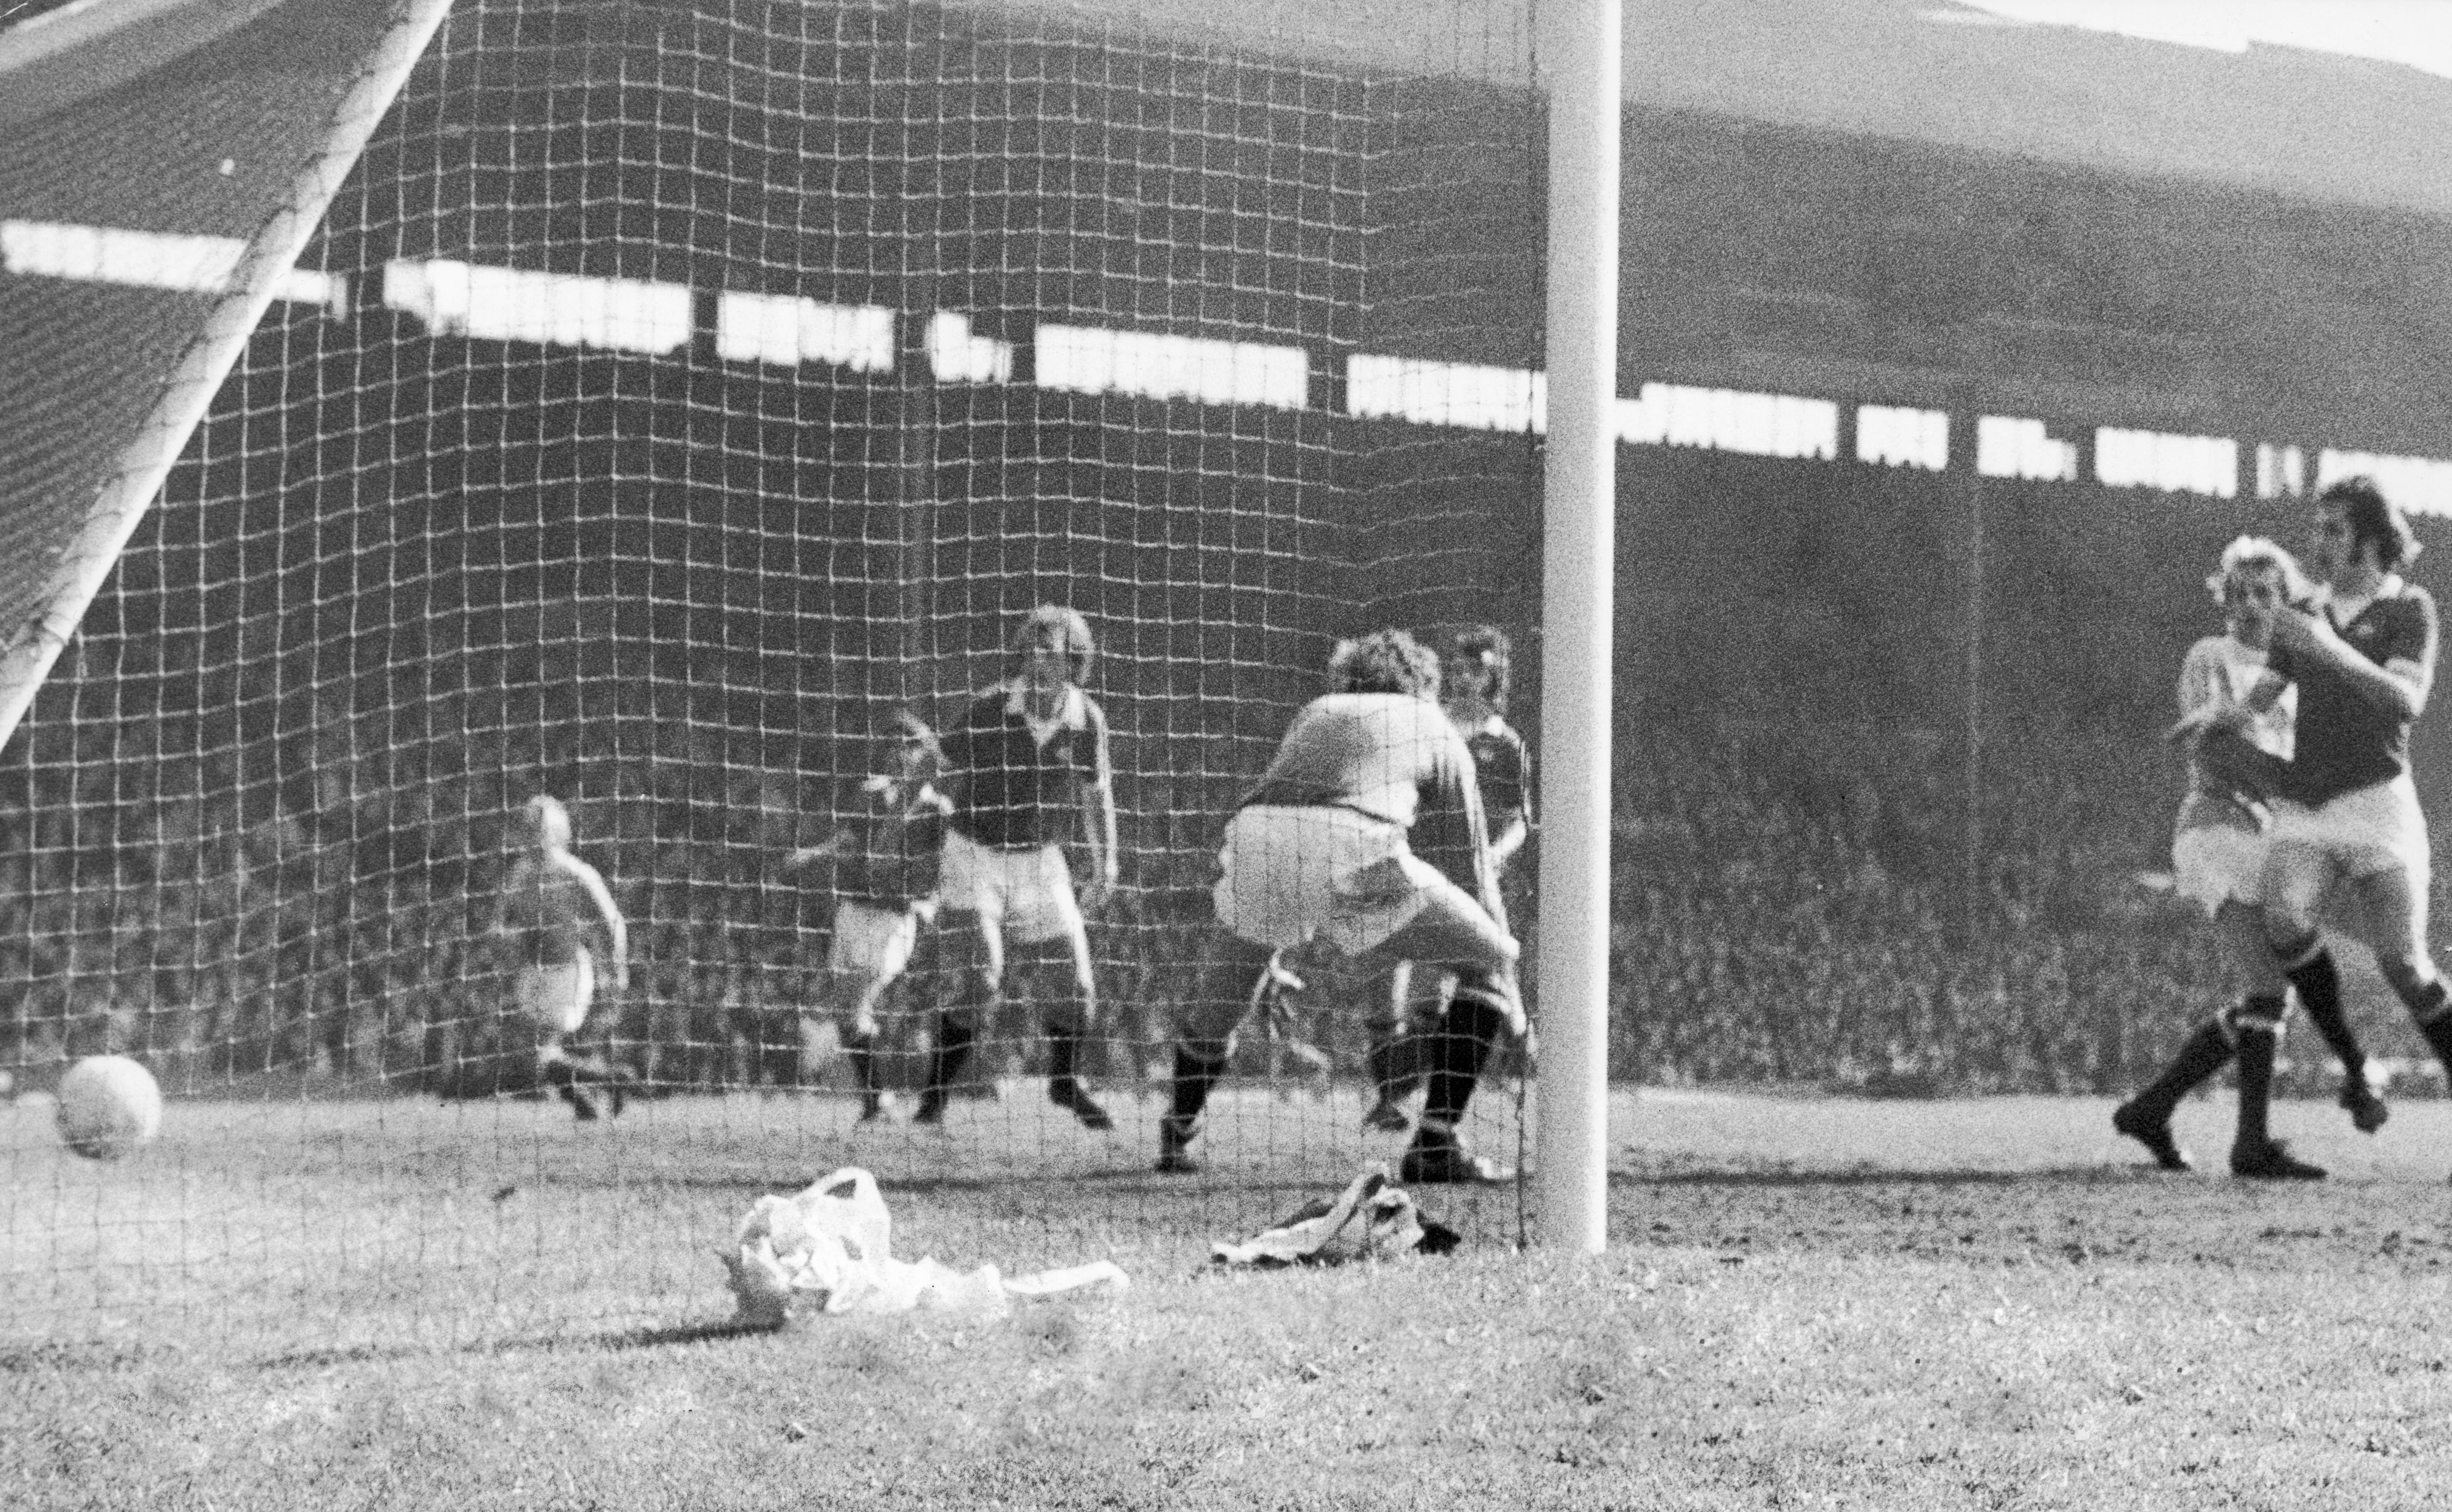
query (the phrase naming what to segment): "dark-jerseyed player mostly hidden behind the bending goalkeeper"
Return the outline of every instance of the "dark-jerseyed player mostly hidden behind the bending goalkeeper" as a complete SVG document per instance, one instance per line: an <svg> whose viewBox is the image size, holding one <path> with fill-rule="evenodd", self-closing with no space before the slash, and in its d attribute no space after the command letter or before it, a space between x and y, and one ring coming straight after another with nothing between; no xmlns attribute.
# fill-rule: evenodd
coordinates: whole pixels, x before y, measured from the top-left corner
<svg viewBox="0 0 2452 1512"><path fill-rule="evenodd" d="M1456 720L1466 750L1474 752L1474 779L1481 784L1481 811L1491 823L1491 863L1506 882L1508 863L1532 836L1532 755L1525 738L1508 723L1508 632L1498 625L1474 625L1456 632L1439 676L1439 703L1447 718ZM1410 961L1393 963L1371 985L1371 997L1380 1005L1371 1017L1371 1083L1376 1103L1363 1113L1363 1127L1403 1132L1405 1098L1425 1076L1422 1032L1437 1027L1447 1010L1452 983L1437 975L1420 997Z"/></svg>

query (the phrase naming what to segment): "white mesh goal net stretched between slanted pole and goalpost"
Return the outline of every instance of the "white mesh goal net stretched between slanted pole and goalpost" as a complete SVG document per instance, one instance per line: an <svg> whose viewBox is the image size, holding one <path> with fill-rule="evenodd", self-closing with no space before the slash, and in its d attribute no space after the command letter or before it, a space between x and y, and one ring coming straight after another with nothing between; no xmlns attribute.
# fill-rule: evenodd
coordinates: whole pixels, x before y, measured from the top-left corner
<svg viewBox="0 0 2452 1512"><path fill-rule="evenodd" d="M1498 625L1532 723L1530 32L1211 10L451 10L0 762L15 1323L351 1314L385 1277L441 1333L672 1316L748 1196L836 1164L1175 1264L1395 1159L1361 1127L1380 988L1304 958L1209 1174L1150 1174L1221 821L1331 644ZM64 520L137 424L120 368L162 365L140 316L226 292L270 216L230 198L248 152L147 105L245 98L248 37L7 154L34 365L0 382L44 421L0 468L54 468ZM333 27L284 37L351 76ZM96 179L115 198L71 194ZM934 929L880 1015L902 1115L863 1125L824 1012L843 899L787 860L1042 603L1086 615L1111 725L1081 1068L1118 1127L1049 1108L1020 973L942 1127L902 1117L956 970ZM569 1046L638 1076L618 1117L552 1098L510 1012L498 897L539 794L628 921ZM42 1113L91 1054L169 1095L128 1164ZM1493 1061L1466 1125L1510 1162L1528 1071ZM1510 1189L1442 1215L1520 1220Z"/></svg>

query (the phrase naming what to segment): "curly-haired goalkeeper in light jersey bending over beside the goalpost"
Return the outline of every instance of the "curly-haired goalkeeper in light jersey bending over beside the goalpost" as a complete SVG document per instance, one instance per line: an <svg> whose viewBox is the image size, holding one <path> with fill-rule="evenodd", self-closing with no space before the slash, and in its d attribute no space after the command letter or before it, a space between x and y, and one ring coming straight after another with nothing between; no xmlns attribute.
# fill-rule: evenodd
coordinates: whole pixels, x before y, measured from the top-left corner
<svg viewBox="0 0 2452 1512"><path fill-rule="evenodd" d="M1295 716L1226 826L1211 892L1219 931L1177 1029L1157 1169L1199 1169L1189 1147L1251 983L1275 951L1327 936L1351 956L1415 961L1456 980L1425 1046L1430 1095L1400 1176L1513 1181L1456 1132L1491 1046L1525 1029L1474 752L1439 711L1437 657L1403 630L1341 642L1329 686Z"/></svg>

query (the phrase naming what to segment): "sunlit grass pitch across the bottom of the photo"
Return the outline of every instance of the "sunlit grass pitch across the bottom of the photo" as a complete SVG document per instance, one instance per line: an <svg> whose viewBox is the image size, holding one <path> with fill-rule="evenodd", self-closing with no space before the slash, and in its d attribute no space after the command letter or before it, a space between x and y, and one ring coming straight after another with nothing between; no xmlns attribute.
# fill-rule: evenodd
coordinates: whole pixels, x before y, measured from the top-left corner
<svg viewBox="0 0 2452 1512"><path fill-rule="evenodd" d="M942 1144L846 1113L184 1103L88 1166L0 1110L0 1505L2369 1512L2452 1485L2445 1103L2376 1140L2285 1105L2334 1181L2248 1186L2136 1169L2099 1100L1653 1091L1618 1108L1606 1257L1518 1255L1508 1193L1427 1191L1464 1252L1295 1274L1201 1255L1393 1149L1349 1095L1241 1093L1192 1184L1145 1174L1155 1103L1111 1142L1020 1098ZM2212 1169L2224 1120L2182 1110ZM1135 1284L723 1331L714 1245L846 1159L902 1255Z"/></svg>

